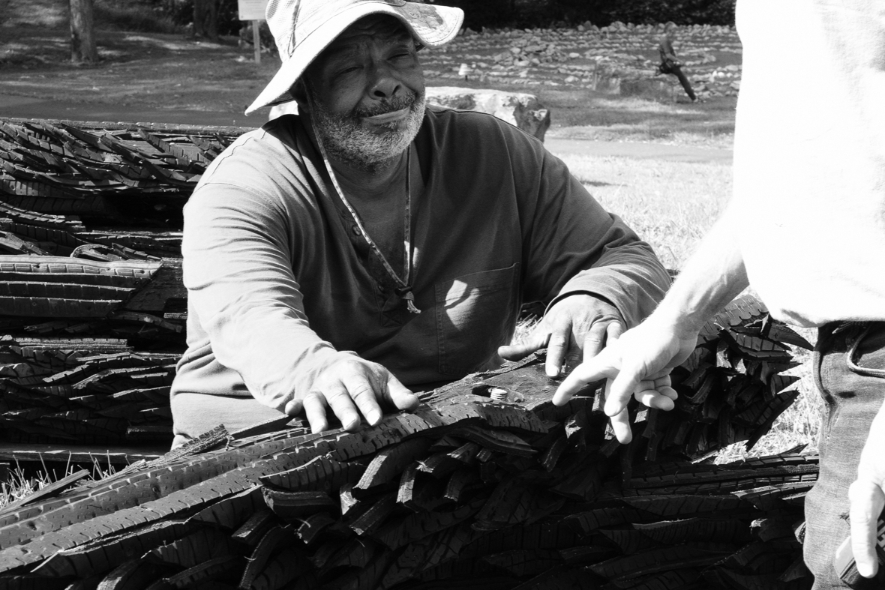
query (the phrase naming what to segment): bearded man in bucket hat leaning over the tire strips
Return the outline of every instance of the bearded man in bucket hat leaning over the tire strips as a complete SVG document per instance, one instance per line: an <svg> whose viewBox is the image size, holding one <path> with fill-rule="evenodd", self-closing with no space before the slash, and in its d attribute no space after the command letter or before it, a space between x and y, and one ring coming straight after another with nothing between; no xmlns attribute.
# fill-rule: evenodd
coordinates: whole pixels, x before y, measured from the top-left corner
<svg viewBox="0 0 885 590"><path fill-rule="evenodd" d="M556 375L663 297L651 248L540 142L425 109L417 52L457 34L459 9L271 0L267 20L283 63L247 112L299 115L238 139L185 209L176 445L301 413L375 424L545 346ZM545 318L506 346L524 301Z"/></svg>

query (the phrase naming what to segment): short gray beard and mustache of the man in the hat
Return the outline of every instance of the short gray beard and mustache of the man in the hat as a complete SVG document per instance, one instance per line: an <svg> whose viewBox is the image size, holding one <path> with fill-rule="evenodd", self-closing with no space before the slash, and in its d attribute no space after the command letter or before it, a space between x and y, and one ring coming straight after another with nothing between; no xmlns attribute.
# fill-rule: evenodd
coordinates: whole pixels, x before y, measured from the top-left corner
<svg viewBox="0 0 885 590"><path fill-rule="evenodd" d="M311 97L311 120L314 131L323 143L328 155L358 170L370 174L385 170L397 162L418 135L424 120L424 95L415 96L409 104L406 129L400 131L391 126L387 133L374 133L365 129L360 121L363 116L403 109L409 99L394 101L389 108L374 113L354 113L336 116L327 111Z"/></svg>

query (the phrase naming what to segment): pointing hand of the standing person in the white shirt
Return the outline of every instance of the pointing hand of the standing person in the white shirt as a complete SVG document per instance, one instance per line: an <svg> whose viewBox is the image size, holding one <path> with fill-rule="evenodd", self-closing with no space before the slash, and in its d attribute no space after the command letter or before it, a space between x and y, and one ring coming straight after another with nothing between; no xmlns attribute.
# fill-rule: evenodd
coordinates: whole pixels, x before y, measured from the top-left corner
<svg viewBox="0 0 885 590"><path fill-rule="evenodd" d="M561 406L587 384L608 379L605 413L618 441L626 444L633 438L627 413L630 396L650 408L672 410L677 394L670 387L670 370L688 358L697 337L695 331L651 316L576 367L556 390L553 403Z"/></svg>

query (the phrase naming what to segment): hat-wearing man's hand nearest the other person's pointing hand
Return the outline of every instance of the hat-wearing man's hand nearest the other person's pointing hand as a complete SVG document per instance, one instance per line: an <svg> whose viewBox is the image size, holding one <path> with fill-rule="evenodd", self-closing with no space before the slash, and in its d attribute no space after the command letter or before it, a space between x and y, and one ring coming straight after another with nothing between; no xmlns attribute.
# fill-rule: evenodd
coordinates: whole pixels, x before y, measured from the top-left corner
<svg viewBox="0 0 885 590"><path fill-rule="evenodd" d="M570 295L550 308L529 338L498 348L498 354L518 361L547 347L547 375L556 377L568 360L587 362L618 339L624 320L615 306L592 295Z"/></svg>

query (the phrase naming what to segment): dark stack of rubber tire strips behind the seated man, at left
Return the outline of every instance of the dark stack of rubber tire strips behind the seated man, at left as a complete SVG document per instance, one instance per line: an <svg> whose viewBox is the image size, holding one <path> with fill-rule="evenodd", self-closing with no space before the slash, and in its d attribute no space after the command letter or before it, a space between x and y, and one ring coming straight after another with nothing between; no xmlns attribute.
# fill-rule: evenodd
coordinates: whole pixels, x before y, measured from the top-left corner
<svg viewBox="0 0 885 590"><path fill-rule="evenodd" d="M0 120L0 436L171 442L182 207L242 129Z"/></svg>

